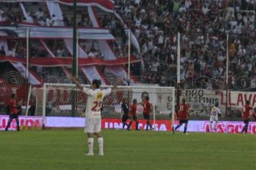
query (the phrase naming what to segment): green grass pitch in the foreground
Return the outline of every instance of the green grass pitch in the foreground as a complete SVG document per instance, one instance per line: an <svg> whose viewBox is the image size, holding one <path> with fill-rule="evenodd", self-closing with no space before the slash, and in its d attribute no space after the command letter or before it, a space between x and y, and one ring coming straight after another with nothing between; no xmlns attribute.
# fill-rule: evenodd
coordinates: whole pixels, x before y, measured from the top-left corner
<svg viewBox="0 0 256 170"><path fill-rule="evenodd" d="M0 169L256 169L251 134L103 130L104 156L87 152L83 130L0 132Z"/></svg>

